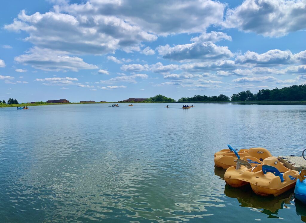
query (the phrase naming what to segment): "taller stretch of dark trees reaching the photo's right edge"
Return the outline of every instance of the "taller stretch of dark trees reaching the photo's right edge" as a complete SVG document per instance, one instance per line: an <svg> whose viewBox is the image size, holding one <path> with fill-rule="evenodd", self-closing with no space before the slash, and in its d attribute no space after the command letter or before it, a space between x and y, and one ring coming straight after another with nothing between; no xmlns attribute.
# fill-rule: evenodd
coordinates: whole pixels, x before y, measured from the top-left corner
<svg viewBox="0 0 306 223"><path fill-rule="evenodd" d="M231 96L232 101L303 101L306 100L306 84L290 87L262 89L257 94L241 91Z"/></svg>

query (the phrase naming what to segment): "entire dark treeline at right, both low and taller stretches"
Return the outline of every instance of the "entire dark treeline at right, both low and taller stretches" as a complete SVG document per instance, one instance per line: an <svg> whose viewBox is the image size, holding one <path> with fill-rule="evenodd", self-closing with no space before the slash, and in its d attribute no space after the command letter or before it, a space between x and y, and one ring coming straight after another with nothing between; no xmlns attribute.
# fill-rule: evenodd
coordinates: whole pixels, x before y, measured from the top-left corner
<svg viewBox="0 0 306 223"><path fill-rule="evenodd" d="M233 94L230 98L225 95L206 96L195 95L194 97L181 98L177 102L218 102L218 101L305 101L306 84L293 85L290 87L262 89L256 94L251 91L241 91Z"/></svg>

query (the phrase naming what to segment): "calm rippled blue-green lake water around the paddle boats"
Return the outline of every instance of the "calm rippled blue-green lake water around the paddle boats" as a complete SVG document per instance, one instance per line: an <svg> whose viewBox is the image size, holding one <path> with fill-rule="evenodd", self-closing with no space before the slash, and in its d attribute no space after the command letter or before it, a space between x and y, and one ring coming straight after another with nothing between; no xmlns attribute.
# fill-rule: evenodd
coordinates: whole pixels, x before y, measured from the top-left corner
<svg viewBox="0 0 306 223"><path fill-rule="evenodd" d="M306 222L293 191L230 188L213 161L301 155L305 105L181 105L0 108L0 222Z"/></svg>

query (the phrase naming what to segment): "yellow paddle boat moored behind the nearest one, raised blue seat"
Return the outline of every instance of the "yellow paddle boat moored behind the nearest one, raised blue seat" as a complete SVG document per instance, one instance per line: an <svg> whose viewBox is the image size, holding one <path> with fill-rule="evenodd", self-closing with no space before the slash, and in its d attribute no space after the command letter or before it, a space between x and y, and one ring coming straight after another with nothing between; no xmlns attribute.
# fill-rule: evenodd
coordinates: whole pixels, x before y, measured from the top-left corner
<svg viewBox="0 0 306 223"><path fill-rule="evenodd" d="M260 164L265 158L272 157L271 153L265 148L256 147L250 149L234 150L230 145L229 149L224 149L215 153L215 165L227 169L236 166L237 159L244 159L251 165Z"/></svg>

